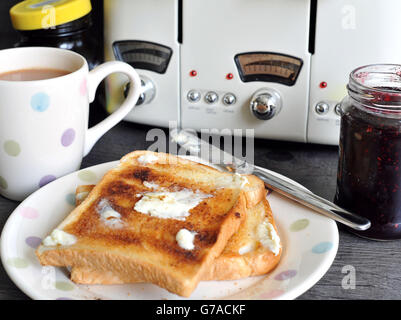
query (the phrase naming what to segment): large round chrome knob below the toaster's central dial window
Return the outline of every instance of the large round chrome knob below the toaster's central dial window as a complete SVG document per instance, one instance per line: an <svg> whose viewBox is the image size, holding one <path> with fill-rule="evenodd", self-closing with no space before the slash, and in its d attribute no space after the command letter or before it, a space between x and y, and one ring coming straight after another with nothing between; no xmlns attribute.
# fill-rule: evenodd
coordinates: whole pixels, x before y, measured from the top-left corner
<svg viewBox="0 0 401 320"><path fill-rule="evenodd" d="M251 112L260 120L269 120L281 110L281 97L272 89L261 89L251 99Z"/></svg>

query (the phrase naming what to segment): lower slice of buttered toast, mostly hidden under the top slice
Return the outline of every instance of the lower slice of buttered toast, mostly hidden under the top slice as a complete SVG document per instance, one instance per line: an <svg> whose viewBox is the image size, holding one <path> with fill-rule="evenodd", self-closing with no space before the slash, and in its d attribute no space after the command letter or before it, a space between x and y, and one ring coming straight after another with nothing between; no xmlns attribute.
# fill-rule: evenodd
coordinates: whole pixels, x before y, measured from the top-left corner
<svg viewBox="0 0 401 320"><path fill-rule="evenodd" d="M77 188L77 205L93 186ZM80 195L80 196L79 196ZM206 270L202 280L234 280L263 275L273 270L280 261L281 244L269 202L264 198L247 209L246 220L227 242L222 254ZM112 272L100 272L74 267L71 279L81 284L123 284ZM130 283L143 282L140 274L133 274Z"/></svg>

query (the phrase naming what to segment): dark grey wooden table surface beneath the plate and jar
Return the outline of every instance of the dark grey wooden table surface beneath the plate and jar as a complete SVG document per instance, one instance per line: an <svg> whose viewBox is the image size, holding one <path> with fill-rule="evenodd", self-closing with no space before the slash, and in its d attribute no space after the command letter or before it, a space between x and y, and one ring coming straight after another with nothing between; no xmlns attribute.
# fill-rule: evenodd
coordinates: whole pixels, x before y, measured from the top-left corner
<svg viewBox="0 0 401 320"><path fill-rule="evenodd" d="M108 132L84 159L82 167L117 160L146 149L149 127L122 122ZM336 147L268 140L255 141L255 163L298 181L329 200L336 184ZM18 205L0 196L0 228ZM340 227L337 257L326 275L300 299L401 299L400 242L375 242L354 236ZM356 271L355 289L343 289L344 266ZM0 266L0 299L28 299Z"/></svg>

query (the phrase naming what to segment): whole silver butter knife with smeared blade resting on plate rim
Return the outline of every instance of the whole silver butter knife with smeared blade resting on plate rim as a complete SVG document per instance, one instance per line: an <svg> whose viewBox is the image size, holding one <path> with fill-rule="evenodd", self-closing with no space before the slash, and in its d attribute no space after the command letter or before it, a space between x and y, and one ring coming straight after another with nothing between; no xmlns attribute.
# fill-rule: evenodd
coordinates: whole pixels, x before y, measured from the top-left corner
<svg viewBox="0 0 401 320"><path fill-rule="evenodd" d="M199 139L196 135L188 131L173 129L170 131L170 137L184 151L189 151L191 155L198 156L224 171L253 174L263 180L265 185L273 191L326 217L345 224L352 229L366 230L370 227L368 219L337 206L299 184L293 183L290 180L284 180L265 168L251 165L244 160L238 159L216 146ZM219 163L213 161L213 159L221 159L222 156L224 161L220 161Z"/></svg>

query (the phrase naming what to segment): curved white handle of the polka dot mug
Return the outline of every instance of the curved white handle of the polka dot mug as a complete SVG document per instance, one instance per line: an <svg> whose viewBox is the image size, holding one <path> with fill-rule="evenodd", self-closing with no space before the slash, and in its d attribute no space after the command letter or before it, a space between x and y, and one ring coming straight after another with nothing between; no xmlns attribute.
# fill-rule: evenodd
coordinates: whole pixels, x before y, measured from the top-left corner
<svg viewBox="0 0 401 320"><path fill-rule="evenodd" d="M94 68L88 74L88 96L89 102L95 99L96 89L100 82L108 75L121 72L128 76L130 81L130 90L123 104L109 115L102 122L88 129L86 132L84 156L86 156L93 148L95 143L117 123L119 123L136 105L139 95L141 94L141 79L138 73L129 64L121 61L110 61Z"/></svg>

